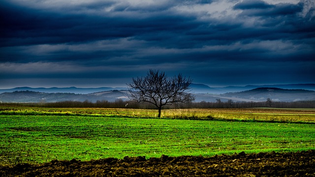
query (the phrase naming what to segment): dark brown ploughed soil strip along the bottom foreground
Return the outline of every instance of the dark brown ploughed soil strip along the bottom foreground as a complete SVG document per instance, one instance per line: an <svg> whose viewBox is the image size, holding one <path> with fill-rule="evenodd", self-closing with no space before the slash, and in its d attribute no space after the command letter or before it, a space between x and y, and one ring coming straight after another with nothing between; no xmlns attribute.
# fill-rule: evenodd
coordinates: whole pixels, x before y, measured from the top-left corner
<svg viewBox="0 0 315 177"><path fill-rule="evenodd" d="M315 177L315 150L290 153L241 152L212 157L180 156L160 158L125 157L100 160L53 160L44 164L0 166L0 174L11 176L202 176L202 177ZM1 175L0 175L1 176Z"/></svg>

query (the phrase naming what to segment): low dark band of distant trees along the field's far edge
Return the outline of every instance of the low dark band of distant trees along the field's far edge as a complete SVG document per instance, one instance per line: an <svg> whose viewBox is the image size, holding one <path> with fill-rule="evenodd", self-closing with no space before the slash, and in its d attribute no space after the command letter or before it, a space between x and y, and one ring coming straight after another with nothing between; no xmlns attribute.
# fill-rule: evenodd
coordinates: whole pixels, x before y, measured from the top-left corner
<svg viewBox="0 0 315 177"><path fill-rule="evenodd" d="M33 106L33 107L47 107L47 108L128 108L128 109L156 109L150 103L138 103L136 101L124 101L117 99L114 102L101 100L96 102L91 101L62 101L54 103L1 103L0 105L16 105L16 106ZM276 102L267 99L265 102L234 102L228 100L222 102L217 99L216 102L188 102L178 105L165 106L164 109L174 108L315 108L314 101L295 101L295 102Z"/></svg>

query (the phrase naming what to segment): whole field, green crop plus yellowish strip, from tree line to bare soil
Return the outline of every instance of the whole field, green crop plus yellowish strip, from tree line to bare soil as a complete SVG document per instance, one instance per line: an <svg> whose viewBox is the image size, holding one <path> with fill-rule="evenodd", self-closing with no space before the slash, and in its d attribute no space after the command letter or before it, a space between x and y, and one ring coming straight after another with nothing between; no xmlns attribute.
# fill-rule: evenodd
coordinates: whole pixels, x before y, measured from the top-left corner
<svg viewBox="0 0 315 177"><path fill-rule="evenodd" d="M314 110L164 110L164 118L155 114L1 107L0 164L315 149Z"/></svg>

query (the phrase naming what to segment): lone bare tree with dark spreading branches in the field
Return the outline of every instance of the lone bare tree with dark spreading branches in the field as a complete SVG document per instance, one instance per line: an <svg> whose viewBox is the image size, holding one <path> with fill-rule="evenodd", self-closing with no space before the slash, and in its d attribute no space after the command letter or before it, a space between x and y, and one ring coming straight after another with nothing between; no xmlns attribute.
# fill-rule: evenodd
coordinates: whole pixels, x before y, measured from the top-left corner
<svg viewBox="0 0 315 177"><path fill-rule="evenodd" d="M132 82L127 84L128 97L138 103L154 104L160 118L163 106L194 100L194 95L189 92L191 82L190 78L186 79L182 74L168 78L164 72L150 69L146 77L132 78Z"/></svg>

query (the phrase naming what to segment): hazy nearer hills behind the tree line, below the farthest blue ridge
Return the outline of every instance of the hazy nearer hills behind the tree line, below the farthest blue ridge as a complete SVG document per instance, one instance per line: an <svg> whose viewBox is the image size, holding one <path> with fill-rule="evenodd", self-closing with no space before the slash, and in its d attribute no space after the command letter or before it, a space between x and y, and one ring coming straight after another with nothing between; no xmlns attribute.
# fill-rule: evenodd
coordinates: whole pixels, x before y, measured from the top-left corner
<svg viewBox="0 0 315 177"><path fill-rule="evenodd" d="M203 86L201 86L203 87ZM85 101L96 102L107 100L113 102L117 99L128 100L126 90L100 91L89 94L75 93L44 93L38 91L14 91L0 94L0 102L60 102L60 101ZM260 102L270 98L272 101L308 101L315 100L315 91L304 89L279 89L279 88L256 88L241 92L229 92L223 94L195 93L195 102L216 102L217 99Z"/></svg>

